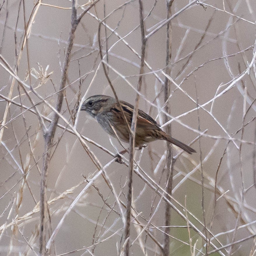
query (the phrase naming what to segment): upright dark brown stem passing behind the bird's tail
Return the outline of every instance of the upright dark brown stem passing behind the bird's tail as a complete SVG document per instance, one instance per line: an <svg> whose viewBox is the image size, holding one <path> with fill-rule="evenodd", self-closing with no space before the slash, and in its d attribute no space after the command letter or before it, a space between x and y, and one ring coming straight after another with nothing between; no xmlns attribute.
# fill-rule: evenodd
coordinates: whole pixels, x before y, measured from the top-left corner
<svg viewBox="0 0 256 256"><path fill-rule="evenodd" d="M171 5L173 0L166 0L166 19L171 17ZM165 61L165 73L170 75L171 67L171 22L166 24L166 61ZM164 80L164 102L166 102L166 112L170 113L170 107L167 102L170 95L170 80L165 77ZM168 121L168 117L165 116L165 122ZM171 134L171 126L166 127L166 132ZM172 192L172 179L173 179L173 164L174 160L172 157L172 147L170 143L167 143L167 155L166 155L166 192L171 195ZM171 222L171 206L168 203L165 203L165 230L164 230L164 243L163 243L163 254L164 256L169 256L169 247L170 247L170 222Z"/></svg>

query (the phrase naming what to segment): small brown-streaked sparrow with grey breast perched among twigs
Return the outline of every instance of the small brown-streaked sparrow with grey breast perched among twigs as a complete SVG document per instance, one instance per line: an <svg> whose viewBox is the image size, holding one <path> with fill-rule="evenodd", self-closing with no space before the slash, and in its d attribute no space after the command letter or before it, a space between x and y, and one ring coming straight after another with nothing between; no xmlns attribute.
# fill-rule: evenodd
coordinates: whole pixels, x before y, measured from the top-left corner
<svg viewBox="0 0 256 256"><path fill-rule="evenodd" d="M131 127L134 106L125 101L120 101L120 104L127 122ZM129 131L115 98L106 95L93 95L83 102L81 110L85 110L94 117L108 134L115 138L118 136L121 141L129 142ZM135 147L141 148L143 144L155 140L168 141L182 148L189 154L196 152L190 146L172 138L162 131L157 122L150 115L142 110L138 110Z"/></svg>

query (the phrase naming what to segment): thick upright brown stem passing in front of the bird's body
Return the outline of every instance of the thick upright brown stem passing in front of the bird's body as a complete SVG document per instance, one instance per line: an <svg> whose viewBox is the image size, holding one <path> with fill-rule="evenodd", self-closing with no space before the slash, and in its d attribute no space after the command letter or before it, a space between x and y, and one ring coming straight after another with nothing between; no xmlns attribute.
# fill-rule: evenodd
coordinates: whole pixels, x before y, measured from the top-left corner
<svg viewBox="0 0 256 256"><path fill-rule="evenodd" d="M145 38L145 29L144 29L144 20L143 20L143 5L142 1L139 0L139 15L140 15L140 27L141 27L141 67L139 72L138 79L138 92L141 91L142 85L142 75L144 73L144 59L145 59L145 49L146 49L146 38ZM139 94L136 94L135 106L131 122L131 133L129 140L129 173L128 173L128 194L127 194L127 205L126 205L126 223L125 223L125 251L124 255L129 256L129 247L130 247L130 222L131 222L131 203L132 203L132 174L133 174L133 157L134 157L134 142L136 134L136 123L138 115L138 105L139 105Z"/></svg>

